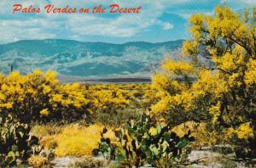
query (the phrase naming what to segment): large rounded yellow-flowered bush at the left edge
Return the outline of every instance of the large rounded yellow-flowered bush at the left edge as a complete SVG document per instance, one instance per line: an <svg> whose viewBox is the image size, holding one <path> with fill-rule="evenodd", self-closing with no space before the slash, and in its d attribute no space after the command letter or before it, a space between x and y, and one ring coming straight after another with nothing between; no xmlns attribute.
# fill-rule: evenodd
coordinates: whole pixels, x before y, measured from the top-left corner
<svg viewBox="0 0 256 168"><path fill-rule="evenodd" d="M35 70L21 76L12 72L0 76L1 115L11 113L22 123L49 120L76 120L86 114L88 100L78 83L61 84L54 72Z"/></svg>

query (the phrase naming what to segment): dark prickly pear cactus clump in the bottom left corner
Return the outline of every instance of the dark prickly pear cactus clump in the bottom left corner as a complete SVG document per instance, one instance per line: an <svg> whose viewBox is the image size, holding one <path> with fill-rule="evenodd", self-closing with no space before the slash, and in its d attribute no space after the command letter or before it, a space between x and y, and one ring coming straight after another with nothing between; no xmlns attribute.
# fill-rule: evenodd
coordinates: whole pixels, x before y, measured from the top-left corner
<svg viewBox="0 0 256 168"><path fill-rule="evenodd" d="M0 117L0 167L26 163L31 154L38 154L38 138L30 135L30 126L11 115Z"/></svg>

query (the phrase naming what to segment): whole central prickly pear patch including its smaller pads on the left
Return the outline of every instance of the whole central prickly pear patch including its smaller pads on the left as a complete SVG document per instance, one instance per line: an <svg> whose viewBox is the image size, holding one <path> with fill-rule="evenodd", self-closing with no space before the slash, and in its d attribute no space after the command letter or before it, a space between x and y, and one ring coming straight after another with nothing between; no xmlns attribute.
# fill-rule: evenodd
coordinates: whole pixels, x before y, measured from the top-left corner
<svg viewBox="0 0 256 168"><path fill-rule="evenodd" d="M194 141L194 137L190 137L190 132L183 137L177 137L170 130L169 126L158 125L149 115L143 114L137 122L130 121L126 123L125 129L115 131L121 147L104 137L108 132L104 129L99 148L94 153L130 165L172 167L186 160L189 153L187 147Z"/></svg>

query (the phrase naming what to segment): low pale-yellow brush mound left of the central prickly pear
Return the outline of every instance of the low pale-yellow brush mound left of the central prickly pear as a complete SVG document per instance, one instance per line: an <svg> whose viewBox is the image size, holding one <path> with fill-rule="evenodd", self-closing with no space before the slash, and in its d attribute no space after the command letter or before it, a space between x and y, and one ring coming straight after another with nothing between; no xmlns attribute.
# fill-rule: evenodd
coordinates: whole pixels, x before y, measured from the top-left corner
<svg viewBox="0 0 256 168"><path fill-rule="evenodd" d="M49 138L49 142L55 142L56 156L91 156L91 151L97 147L101 139L101 130L103 126L99 124L90 126L81 126L72 124L65 126L60 134ZM111 132L109 132L109 136ZM46 143L46 142L44 142ZM46 143L47 144L47 143Z"/></svg>

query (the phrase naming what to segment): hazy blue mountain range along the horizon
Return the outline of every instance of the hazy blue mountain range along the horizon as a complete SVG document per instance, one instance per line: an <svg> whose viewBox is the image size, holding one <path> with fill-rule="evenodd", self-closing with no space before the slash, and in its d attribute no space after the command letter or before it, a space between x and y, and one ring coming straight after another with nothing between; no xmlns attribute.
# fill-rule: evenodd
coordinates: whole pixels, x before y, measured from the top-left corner
<svg viewBox="0 0 256 168"><path fill-rule="evenodd" d="M183 40L170 42L77 42L26 40L0 45L0 72L54 70L60 78L149 77L165 55L177 57Z"/></svg>

